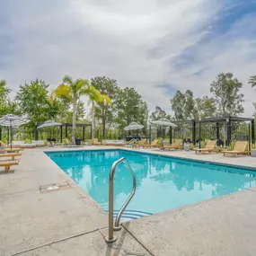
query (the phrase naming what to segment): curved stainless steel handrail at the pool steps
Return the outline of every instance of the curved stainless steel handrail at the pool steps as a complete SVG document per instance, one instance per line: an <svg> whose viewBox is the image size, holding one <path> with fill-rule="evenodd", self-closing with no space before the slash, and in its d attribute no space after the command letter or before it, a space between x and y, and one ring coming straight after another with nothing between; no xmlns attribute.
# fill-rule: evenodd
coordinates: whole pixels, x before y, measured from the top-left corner
<svg viewBox="0 0 256 256"><path fill-rule="evenodd" d="M128 168L129 172L133 178L133 187L128 199L124 203L124 205L119 209L119 213L116 216L115 225L114 225L114 176L115 171L119 163L125 163L126 167ZM109 187L109 235L105 237L107 243L113 243L117 240L117 237L114 235L114 231L119 231L121 229L121 225L119 224L120 218L122 213L128 206L129 201L133 198L136 191L136 178L135 174L132 171L130 165L128 164L127 160L124 157L121 157L118 161L114 162L110 169L110 187Z"/></svg>

